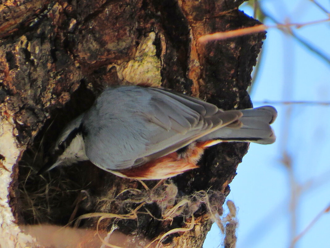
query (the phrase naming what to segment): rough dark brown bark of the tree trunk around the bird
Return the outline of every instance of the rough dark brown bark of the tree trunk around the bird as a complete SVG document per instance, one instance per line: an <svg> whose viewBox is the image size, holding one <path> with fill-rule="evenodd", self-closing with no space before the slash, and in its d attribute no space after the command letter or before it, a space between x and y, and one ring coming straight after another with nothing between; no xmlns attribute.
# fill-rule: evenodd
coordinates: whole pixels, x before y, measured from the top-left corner
<svg viewBox="0 0 330 248"><path fill-rule="evenodd" d="M172 191L160 186L172 192L167 205L159 199L162 190L145 190L137 181L118 178L88 163L55 170L46 179L29 176L39 169L44 151L50 149L63 125L86 110L106 86L142 83L200 97L223 109L251 107L246 89L265 33L206 45L196 41L203 34L259 24L238 10L242 2L0 1L0 247L24 247L32 242L17 224L64 225L75 206L75 217L95 211L127 214L142 202L146 203L139 211L150 214L138 214L138 221L116 221L119 231L153 240L171 229L190 227L194 218L191 230L168 235L162 245L202 246L212 224L208 203L213 214L221 216L228 184L248 144L208 149L199 169L167 182L172 189L174 185ZM54 185L58 182L53 179L60 176L71 180L72 194L63 193L69 191L63 185ZM57 206L48 209L47 216L36 217L22 209L24 188L20 185L30 184L26 188L33 191L38 189L31 185L45 180L63 198L58 197ZM152 188L156 183L147 185ZM89 192L92 207L74 204L82 188ZM143 193L126 191L117 196L127 188ZM137 199L142 196L145 201ZM182 199L189 203L172 220L157 220ZM113 220L102 221L100 227L109 228ZM95 226L97 221L91 218L82 227Z"/></svg>

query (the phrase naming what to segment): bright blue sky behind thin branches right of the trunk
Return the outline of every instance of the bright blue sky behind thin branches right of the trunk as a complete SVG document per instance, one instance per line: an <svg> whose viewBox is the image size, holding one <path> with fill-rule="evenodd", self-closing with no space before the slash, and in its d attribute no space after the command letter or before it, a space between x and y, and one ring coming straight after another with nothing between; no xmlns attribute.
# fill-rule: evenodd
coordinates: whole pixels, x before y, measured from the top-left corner
<svg viewBox="0 0 330 248"><path fill-rule="evenodd" d="M327 0L318 3L330 11ZM264 8L279 21L304 23L326 19L309 0L265 0ZM241 8L248 15L251 9ZM295 30L330 57L330 22ZM266 21L266 24L273 25ZM269 29L257 85L251 94L254 106L264 101L330 102L330 65L278 29ZM320 104L273 104L279 112L273 128L273 145L251 144L230 184L227 199L238 207L238 248L290 247L292 235L304 230L330 203L330 106ZM282 154L291 157L291 174ZM296 231L290 215L290 175L303 189L296 193ZM296 248L329 247L330 213L296 243ZM214 225L204 248L222 242Z"/></svg>

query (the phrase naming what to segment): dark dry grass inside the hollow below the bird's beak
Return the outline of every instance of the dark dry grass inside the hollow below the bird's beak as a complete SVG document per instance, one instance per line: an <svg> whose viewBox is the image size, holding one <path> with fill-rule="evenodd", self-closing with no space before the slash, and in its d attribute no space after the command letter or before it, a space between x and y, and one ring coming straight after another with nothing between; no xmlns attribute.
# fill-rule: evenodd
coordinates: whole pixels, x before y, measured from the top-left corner
<svg viewBox="0 0 330 248"><path fill-rule="evenodd" d="M63 225L74 210L75 199L89 182L78 166L37 176L38 169L44 164L44 155L41 146L38 149L31 147L19 162L18 211L24 224Z"/></svg>

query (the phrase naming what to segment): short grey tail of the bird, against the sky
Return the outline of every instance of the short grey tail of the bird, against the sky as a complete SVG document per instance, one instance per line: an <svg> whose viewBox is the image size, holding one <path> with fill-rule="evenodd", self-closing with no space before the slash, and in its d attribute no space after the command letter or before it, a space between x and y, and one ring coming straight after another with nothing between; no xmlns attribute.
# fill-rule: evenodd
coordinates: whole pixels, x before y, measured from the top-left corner
<svg viewBox="0 0 330 248"><path fill-rule="evenodd" d="M262 106L240 110L243 116L218 130L200 138L198 141L217 140L218 142L254 142L272 144L276 140L270 124L277 117L277 111L272 106ZM212 145L214 145L212 143Z"/></svg>

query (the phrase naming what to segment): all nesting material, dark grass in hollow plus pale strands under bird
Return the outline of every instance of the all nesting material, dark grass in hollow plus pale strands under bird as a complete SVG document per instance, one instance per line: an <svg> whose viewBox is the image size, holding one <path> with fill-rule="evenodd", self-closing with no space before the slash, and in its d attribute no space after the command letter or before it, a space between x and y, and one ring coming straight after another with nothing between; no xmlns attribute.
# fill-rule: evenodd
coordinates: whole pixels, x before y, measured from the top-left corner
<svg viewBox="0 0 330 248"><path fill-rule="evenodd" d="M209 218L219 222L218 215L222 214L222 208L219 204L223 202L223 194L209 189L208 191L197 191L191 195L181 195L178 192L178 187L170 179L160 181L153 188L148 188L142 182L143 187L140 187L142 189L128 188L115 196L115 189L109 189L108 193L103 196L93 195L92 205L96 209L92 211L96 210L97 212L81 214L79 211L77 212L77 205L75 208L75 199L86 191L85 189L89 187L90 183L83 175L77 177L77 175L81 175L82 168L72 166L68 169L66 167L62 170L52 171L51 174L36 176L37 168L40 168L44 163L44 154L41 150L31 149L26 152L19 165L19 202L24 224L66 225L71 224L71 220L73 220L72 223L75 223L75 227L79 227L84 219L98 218L97 234L103 245L107 246L111 242L107 242L100 235L106 230L99 230L100 223L105 219L113 219L112 222L109 222L111 223L110 226L106 228L107 230L114 230L117 228L118 220L136 220L138 222L138 216L141 214L149 215L159 221L167 221L170 224L174 218L182 217L186 223L185 227L173 228L149 242L149 246L159 246L170 234L192 230L195 225L194 215L197 210L201 209L202 205L204 205L203 209L208 212ZM156 218L152 215L146 207L149 204L158 206L160 216L158 215ZM116 207L114 208L114 206ZM112 213L114 209L116 209L116 213ZM74 216L78 216L78 218L74 219ZM139 230L136 232L139 233Z"/></svg>

